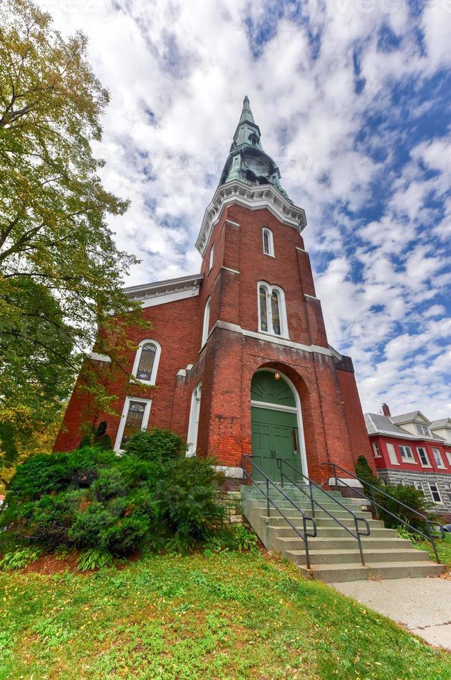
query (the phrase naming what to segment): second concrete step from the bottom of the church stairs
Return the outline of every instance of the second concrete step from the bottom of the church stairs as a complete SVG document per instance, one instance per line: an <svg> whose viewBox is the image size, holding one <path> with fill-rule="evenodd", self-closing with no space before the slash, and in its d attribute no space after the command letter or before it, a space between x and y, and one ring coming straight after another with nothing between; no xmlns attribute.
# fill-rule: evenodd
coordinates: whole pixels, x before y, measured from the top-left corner
<svg viewBox="0 0 451 680"><path fill-rule="evenodd" d="M292 559L297 564L306 563L306 552L304 550L304 543L301 538L287 538L285 539L285 546L281 549L283 554L287 557L292 556ZM308 543L308 552L310 554L311 564L348 564L361 563L360 551L357 548L357 541L355 541L355 549L350 550L317 550L312 543ZM367 566L373 562L398 563L398 562L421 562L424 561L424 554L422 550L415 550L415 548L401 549L401 550L378 550L377 548L364 548L364 561Z"/></svg>

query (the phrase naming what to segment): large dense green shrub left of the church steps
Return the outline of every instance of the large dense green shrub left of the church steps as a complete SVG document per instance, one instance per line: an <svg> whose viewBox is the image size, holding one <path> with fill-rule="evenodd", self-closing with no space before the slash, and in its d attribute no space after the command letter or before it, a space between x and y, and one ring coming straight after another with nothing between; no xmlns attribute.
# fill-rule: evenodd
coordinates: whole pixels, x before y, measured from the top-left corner
<svg viewBox="0 0 451 680"><path fill-rule="evenodd" d="M146 545L191 550L222 526L215 500L222 475L185 450L179 435L155 428L131 436L123 456L90 446L28 459L0 516L3 536L116 557Z"/></svg>

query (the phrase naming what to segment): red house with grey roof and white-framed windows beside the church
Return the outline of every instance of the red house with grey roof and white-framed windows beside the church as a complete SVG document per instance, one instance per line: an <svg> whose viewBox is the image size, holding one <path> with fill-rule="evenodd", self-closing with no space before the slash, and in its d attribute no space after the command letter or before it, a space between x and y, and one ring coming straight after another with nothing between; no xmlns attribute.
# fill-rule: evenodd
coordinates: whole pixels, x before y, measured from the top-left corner
<svg viewBox="0 0 451 680"><path fill-rule="evenodd" d="M451 418L428 420L421 411L391 416L365 414L378 475L389 484L412 485L435 504L436 512L451 513Z"/></svg>

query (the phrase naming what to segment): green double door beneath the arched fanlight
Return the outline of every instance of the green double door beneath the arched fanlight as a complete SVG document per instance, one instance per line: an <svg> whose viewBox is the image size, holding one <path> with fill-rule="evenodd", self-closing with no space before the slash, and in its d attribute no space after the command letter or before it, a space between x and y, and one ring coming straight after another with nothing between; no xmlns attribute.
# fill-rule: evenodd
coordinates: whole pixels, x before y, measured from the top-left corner
<svg viewBox="0 0 451 680"><path fill-rule="evenodd" d="M301 450L297 416L288 411L276 411L260 407L251 407L252 462L262 470L269 479L280 482L280 471L276 459L281 458L292 464L301 472ZM292 468L284 466L286 475L294 479ZM254 479L263 479L263 475L254 468ZM297 477L301 482L301 477Z"/></svg>

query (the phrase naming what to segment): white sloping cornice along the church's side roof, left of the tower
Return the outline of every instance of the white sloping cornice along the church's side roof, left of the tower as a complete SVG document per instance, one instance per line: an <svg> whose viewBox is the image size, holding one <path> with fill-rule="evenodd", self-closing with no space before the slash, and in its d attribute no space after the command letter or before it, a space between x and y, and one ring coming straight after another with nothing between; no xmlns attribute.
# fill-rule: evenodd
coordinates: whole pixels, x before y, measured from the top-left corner
<svg viewBox="0 0 451 680"><path fill-rule="evenodd" d="M143 307L156 307L199 295L203 278L203 274L182 276L177 279L131 286L125 288L124 292L131 300L139 300Z"/></svg>

